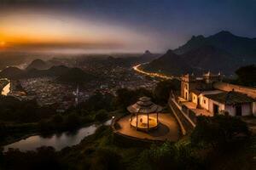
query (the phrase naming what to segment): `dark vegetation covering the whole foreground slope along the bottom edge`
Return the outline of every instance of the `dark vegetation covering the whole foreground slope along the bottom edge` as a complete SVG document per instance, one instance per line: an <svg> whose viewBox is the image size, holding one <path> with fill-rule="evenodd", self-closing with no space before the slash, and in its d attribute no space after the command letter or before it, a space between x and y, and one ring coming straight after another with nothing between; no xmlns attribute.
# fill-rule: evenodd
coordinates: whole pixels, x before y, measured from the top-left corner
<svg viewBox="0 0 256 170"><path fill-rule="evenodd" d="M55 116L55 121L61 122L61 118ZM209 122L210 125L205 122ZM214 130L212 131L210 127L214 127ZM199 135L199 132L202 135ZM222 134L218 133L217 137L216 132L224 133L224 138L219 139ZM102 126L79 145L60 152L55 152L49 147L25 153L9 150L2 155L2 167L4 169L20 169L20 167L33 169L37 166L44 169L51 167L135 170L242 169L242 167L253 169L253 164L248 164L248 161L253 161L252 154L256 151L253 144L256 144L256 139L241 140L239 138L241 135L238 135L241 133L248 137L247 126L239 119L230 116L212 118L201 116L191 138L181 139L177 143L152 144L149 148L147 145L142 147L136 144L127 147L122 145L125 142L116 142L110 127ZM212 140L215 141L214 146ZM29 160L29 165L24 164L25 159Z"/></svg>

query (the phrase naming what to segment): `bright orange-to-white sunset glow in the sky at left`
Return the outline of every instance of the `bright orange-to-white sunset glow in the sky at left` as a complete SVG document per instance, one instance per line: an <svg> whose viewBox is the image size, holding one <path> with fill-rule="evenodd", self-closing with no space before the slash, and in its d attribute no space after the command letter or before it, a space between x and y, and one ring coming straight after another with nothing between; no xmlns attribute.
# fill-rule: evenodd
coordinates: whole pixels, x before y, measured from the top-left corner
<svg viewBox="0 0 256 170"><path fill-rule="evenodd" d="M113 26L64 14L36 12L0 15L0 44L7 49L139 48L148 37L123 26ZM6 44L8 45L6 45Z"/></svg>

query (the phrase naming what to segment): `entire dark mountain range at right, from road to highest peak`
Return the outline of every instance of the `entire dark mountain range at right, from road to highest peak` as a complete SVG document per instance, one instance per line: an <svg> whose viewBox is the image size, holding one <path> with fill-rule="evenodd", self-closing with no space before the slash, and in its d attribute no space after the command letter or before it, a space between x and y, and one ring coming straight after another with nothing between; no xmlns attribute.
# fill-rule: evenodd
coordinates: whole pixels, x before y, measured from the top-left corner
<svg viewBox="0 0 256 170"><path fill-rule="evenodd" d="M230 75L242 65L256 63L256 39L220 31L209 37L193 36L183 46L168 50L144 69L179 76L204 71Z"/></svg>

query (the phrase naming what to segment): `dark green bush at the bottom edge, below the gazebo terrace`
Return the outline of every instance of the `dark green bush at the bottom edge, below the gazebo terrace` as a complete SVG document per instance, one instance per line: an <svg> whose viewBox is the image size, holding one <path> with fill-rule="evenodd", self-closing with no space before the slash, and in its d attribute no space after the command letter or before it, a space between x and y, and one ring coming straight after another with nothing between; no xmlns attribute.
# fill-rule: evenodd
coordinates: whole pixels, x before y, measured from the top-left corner
<svg viewBox="0 0 256 170"><path fill-rule="evenodd" d="M138 169L198 169L201 161L195 155L191 144L166 142L153 144L149 150L144 150L137 162Z"/></svg>

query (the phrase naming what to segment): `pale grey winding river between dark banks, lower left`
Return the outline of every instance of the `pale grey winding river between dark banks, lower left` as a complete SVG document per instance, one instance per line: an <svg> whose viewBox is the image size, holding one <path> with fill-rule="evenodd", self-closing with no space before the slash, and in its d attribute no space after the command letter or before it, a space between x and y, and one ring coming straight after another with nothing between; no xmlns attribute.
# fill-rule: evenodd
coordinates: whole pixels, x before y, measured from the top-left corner
<svg viewBox="0 0 256 170"><path fill-rule="evenodd" d="M104 122L104 125L110 125L112 120ZM35 135L26 139L21 139L13 144L8 144L3 147L3 151L6 152L9 148L19 149L20 151L36 150L41 146L52 146L55 150L61 150L67 146L73 146L79 144L84 137L89 136L96 132L96 128L101 125L90 125L89 127L81 127L75 133L64 132L55 133L49 137L41 135Z"/></svg>

